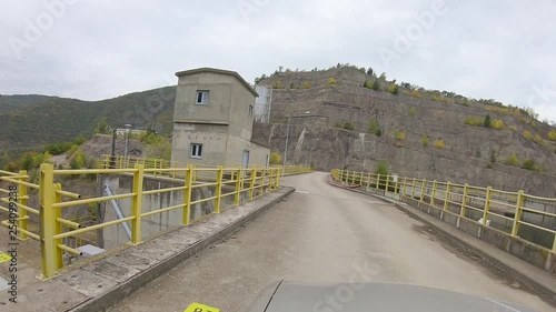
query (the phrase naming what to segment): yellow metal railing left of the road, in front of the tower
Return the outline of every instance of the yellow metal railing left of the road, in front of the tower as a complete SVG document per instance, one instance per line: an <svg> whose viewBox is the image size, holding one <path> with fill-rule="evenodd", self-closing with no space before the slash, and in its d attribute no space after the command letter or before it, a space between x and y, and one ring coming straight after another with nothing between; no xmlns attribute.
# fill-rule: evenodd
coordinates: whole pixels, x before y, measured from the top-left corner
<svg viewBox="0 0 556 312"><path fill-rule="evenodd" d="M68 259L68 255L81 254L75 246L79 245L79 240L83 239L83 234L95 233L93 231L107 227L129 222L131 229L130 243L139 244L143 239L141 234L141 220L147 217L181 210L181 224L188 225L197 221L191 220L192 205L210 201L214 209L209 214L220 213L226 209L240 204L241 201L252 200L277 190L280 185L280 178L285 172L285 168L281 167L197 168L188 165L171 168L169 162L158 162L158 160L149 159L139 160L128 158L123 162L123 159L119 158L117 161L120 161L120 164L113 169L99 168L83 170L54 170L52 164L43 163L39 170L39 184L28 182L29 175L26 171L20 171L19 173L0 171L0 211L8 215L8 220L3 220L1 223L4 227L17 224L17 232L20 240L31 238L41 242L43 279L53 276L64 266L64 259ZM135 163L131 163L131 161ZM131 165L132 168L125 168L126 165ZM299 169L296 170L299 171ZM289 171L294 170L288 169ZM57 181L62 180L62 177L78 177L83 174L128 174L132 177L132 187L130 192L127 193L83 199L79 194L63 190L62 184L57 183ZM156 174L171 177L176 183L179 183L179 187L176 187L176 183L173 183L175 185L171 188L143 190L143 179L147 175ZM196 177L202 177L203 179L196 180ZM201 195L193 199L192 191L200 188L214 188L215 191L211 197L203 198ZM28 205L28 192L30 190L34 193L38 191L40 210ZM183 201L172 207L165 207L152 211L143 209L143 197L168 192L183 192ZM225 207L226 203L222 199L227 199L228 197L232 200L228 200L230 204ZM92 222L85 224L80 223L79 220L66 220L61 218L62 210L125 199L131 201L131 213L122 219L106 222L98 220L95 224ZM28 230L28 213L40 214L40 233L33 233ZM69 239L78 243L69 245ZM88 242L90 241L88 240Z"/></svg>

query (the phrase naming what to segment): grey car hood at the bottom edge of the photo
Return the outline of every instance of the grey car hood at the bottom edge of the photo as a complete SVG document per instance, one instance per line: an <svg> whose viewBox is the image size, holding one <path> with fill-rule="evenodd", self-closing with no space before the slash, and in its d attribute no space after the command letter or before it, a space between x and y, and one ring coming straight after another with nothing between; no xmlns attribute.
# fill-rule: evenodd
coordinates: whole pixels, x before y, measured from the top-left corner
<svg viewBox="0 0 556 312"><path fill-rule="evenodd" d="M395 283L307 284L281 281L265 289L247 312L493 312L535 310L447 290Z"/></svg>

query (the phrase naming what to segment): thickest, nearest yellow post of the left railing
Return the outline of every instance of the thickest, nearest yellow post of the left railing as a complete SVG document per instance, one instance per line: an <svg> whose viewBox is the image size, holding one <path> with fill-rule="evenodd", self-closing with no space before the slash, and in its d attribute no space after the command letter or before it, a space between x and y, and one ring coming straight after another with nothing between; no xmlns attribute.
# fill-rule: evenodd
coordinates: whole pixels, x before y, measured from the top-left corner
<svg viewBox="0 0 556 312"><path fill-rule="evenodd" d="M61 268L62 251L53 236L58 234L57 212L52 208L56 202L54 168L51 163L40 165L40 246L42 254L42 279L51 278ZM59 210L58 210L59 211Z"/></svg>

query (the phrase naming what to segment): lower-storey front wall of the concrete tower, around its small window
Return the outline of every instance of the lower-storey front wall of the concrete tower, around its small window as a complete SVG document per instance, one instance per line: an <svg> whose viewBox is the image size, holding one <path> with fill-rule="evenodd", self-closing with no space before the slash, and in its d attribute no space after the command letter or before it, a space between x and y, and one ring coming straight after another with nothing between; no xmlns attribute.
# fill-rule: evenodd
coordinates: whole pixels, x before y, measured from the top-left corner
<svg viewBox="0 0 556 312"><path fill-rule="evenodd" d="M172 162L220 165L226 162L228 125L175 123ZM191 143L202 144L202 157L191 158Z"/></svg>

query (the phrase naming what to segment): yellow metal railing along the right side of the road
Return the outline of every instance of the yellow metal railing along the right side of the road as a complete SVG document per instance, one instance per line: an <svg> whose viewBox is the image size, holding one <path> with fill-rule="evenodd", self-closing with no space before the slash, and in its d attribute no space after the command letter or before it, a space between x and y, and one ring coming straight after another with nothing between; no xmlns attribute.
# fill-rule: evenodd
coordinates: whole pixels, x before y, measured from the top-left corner
<svg viewBox="0 0 556 312"><path fill-rule="evenodd" d="M490 187L428 181L407 177L380 175L335 169L331 177L340 182L399 194L429 204L456 217L488 225L514 238L556 252L556 199L508 192ZM547 210L550 210L548 212ZM492 224L490 224L492 222ZM522 227L552 235L552 241L528 238ZM530 235L529 235L530 236Z"/></svg>

